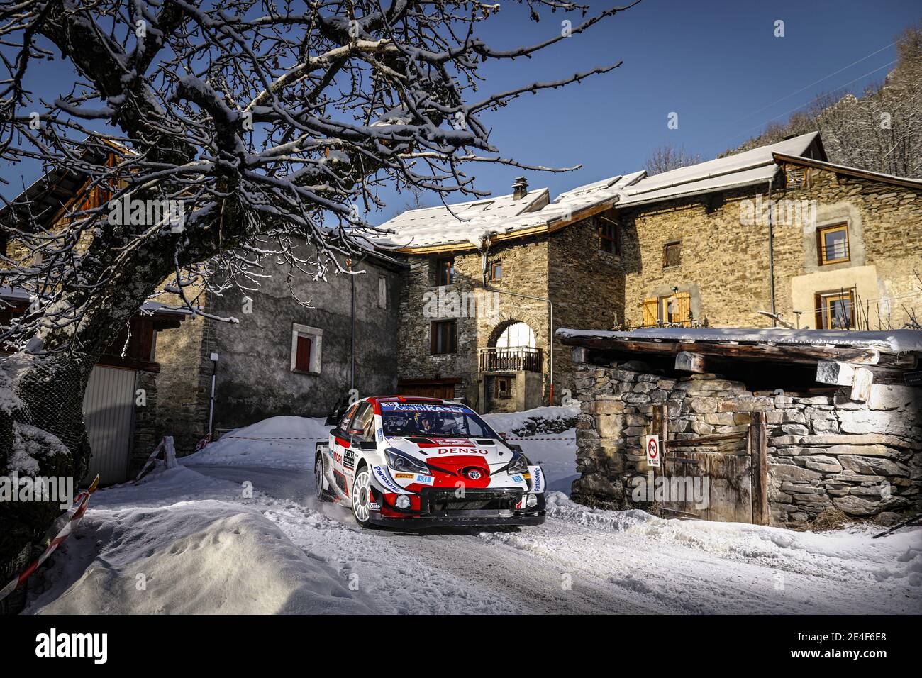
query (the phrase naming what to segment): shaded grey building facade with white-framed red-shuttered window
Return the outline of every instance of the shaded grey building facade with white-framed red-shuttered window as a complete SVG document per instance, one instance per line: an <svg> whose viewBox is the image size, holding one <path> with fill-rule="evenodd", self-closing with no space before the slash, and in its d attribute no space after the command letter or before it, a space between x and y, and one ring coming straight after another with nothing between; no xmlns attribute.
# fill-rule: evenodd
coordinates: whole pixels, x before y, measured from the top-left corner
<svg viewBox="0 0 922 678"><path fill-rule="evenodd" d="M353 276L293 280L294 294L309 305L292 296L278 270L247 295L207 296L205 312L213 317L192 317L158 344L159 434L176 436L185 454L207 436L209 419L220 433L274 416L326 416L352 387L359 397L394 392L403 264L370 255L354 269ZM310 348L299 365L304 346Z"/></svg>

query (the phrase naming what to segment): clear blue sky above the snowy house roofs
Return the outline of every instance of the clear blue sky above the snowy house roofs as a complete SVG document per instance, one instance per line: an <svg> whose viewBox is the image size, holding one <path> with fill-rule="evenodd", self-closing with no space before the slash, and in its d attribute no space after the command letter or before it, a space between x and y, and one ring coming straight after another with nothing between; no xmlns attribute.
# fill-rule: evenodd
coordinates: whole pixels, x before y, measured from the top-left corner
<svg viewBox="0 0 922 678"><path fill-rule="evenodd" d="M535 23L524 7L503 2L500 14L481 24L481 37L496 47L539 42L560 33L562 18L545 11ZM533 58L484 66L484 90L492 92L623 61L609 74L526 95L483 117L504 157L582 169L551 174L478 164L468 172L494 194L510 192L514 177L525 173L532 187L548 186L556 196L641 169L650 151L667 142L705 160L715 157L822 91L860 93L880 81L896 58L895 36L920 18L918 0L644 0ZM778 19L785 22L783 38L774 37ZM670 130L673 112L679 128ZM38 168L5 165L0 173L12 184L0 185L0 192L11 196L38 177ZM369 215L372 223L408 202L407 196L384 197L388 207Z"/></svg>

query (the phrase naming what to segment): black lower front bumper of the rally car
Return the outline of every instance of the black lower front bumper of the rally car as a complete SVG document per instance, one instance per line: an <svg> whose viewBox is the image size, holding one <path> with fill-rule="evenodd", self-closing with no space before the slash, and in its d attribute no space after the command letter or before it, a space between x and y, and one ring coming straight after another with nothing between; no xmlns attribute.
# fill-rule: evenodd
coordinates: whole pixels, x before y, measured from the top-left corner
<svg viewBox="0 0 922 678"><path fill-rule="evenodd" d="M382 502L380 511L369 518L375 525L402 529L439 526L540 525L544 522L544 494L536 494L536 506L516 508L524 495L519 488L467 489L457 496L454 489L426 488L420 492L419 509L399 509Z"/></svg>

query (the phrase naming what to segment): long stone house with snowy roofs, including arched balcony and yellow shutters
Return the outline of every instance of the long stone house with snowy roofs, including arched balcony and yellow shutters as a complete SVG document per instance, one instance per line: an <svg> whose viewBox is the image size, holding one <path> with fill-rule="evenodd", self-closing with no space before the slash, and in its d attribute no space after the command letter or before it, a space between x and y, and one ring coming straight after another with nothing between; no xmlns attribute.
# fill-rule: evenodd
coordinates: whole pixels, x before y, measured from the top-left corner
<svg viewBox="0 0 922 678"><path fill-rule="evenodd" d="M833 165L817 133L553 201L514 189L382 225L409 262L401 392L558 401L573 365L551 312L554 327L867 330L922 309L922 181Z"/></svg>

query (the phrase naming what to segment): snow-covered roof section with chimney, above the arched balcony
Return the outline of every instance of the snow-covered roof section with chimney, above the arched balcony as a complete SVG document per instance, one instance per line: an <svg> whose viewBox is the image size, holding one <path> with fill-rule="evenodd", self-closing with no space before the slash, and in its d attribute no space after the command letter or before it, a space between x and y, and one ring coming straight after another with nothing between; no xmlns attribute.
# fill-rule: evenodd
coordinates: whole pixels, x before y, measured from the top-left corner
<svg viewBox="0 0 922 678"><path fill-rule="evenodd" d="M485 235L504 232L502 223L524 212L539 209L548 202L548 189L529 191L515 199L490 196L455 203L449 207L408 209L379 228L393 233L384 240L401 247L427 247L438 244L479 244Z"/></svg>

